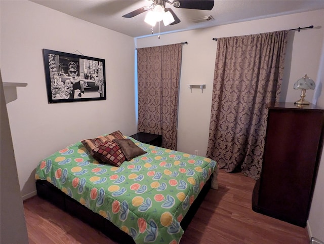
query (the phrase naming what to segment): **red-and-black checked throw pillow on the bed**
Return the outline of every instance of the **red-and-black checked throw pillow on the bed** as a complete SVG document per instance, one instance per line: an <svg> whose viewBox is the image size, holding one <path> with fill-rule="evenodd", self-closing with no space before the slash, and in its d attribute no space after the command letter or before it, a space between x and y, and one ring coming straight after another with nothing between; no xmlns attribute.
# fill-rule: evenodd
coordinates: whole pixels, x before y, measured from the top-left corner
<svg viewBox="0 0 324 244"><path fill-rule="evenodd" d="M108 141L93 149L94 157L107 164L119 167L125 161L125 155L113 141Z"/></svg>

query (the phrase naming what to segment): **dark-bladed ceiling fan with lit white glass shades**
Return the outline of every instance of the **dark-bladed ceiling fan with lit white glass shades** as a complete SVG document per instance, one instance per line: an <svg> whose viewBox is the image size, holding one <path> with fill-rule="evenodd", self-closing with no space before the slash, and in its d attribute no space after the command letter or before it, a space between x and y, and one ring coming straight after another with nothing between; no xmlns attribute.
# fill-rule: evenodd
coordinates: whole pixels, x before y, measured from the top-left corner
<svg viewBox="0 0 324 244"><path fill-rule="evenodd" d="M134 10L128 14L123 15L123 17L132 18L150 10L145 17L145 22L154 26L156 22L163 20L164 25L167 26L169 24L178 24L181 21L171 8L166 8L166 3L180 9L212 10L214 7L214 0L176 0L173 2L170 2L169 0L150 1L152 2L150 6Z"/></svg>

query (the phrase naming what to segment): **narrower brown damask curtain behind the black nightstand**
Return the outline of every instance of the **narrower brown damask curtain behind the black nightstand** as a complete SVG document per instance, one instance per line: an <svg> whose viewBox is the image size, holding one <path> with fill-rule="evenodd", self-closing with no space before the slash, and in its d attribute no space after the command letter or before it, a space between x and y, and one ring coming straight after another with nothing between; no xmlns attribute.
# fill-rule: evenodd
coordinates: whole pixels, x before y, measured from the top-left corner
<svg viewBox="0 0 324 244"><path fill-rule="evenodd" d="M137 49L138 132L162 135L177 149L177 112L182 44Z"/></svg>

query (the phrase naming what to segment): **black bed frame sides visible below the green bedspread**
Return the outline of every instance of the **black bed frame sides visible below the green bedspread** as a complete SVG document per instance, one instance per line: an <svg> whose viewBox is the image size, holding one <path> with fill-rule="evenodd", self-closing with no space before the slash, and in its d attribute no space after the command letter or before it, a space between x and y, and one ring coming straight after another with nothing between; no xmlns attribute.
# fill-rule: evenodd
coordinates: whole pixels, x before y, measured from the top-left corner
<svg viewBox="0 0 324 244"><path fill-rule="evenodd" d="M199 195L190 206L189 211L182 219L180 225L183 230L186 230L190 221L197 212L201 202L203 202L209 189L211 188L211 178L206 182ZM80 204L78 201L66 195L60 189L44 180L36 180L37 195L50 201L56 207L65 212L77 217L90 226L100 230L103 234L118 243L135 243L133 238L126 232L120 230L117 226L112 224L109 220L101 215L91 211L87 207Z"/></svg>

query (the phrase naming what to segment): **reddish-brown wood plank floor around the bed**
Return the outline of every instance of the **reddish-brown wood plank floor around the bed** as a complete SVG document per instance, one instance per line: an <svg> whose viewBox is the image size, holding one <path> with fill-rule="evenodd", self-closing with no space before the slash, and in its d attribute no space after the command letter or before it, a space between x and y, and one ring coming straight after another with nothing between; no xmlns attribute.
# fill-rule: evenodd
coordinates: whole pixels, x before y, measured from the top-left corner
<svg viewBox="0 0 324 244"><path fill-rule="evenodd" d="M306 228L251 208L255 180L220 170L219 190L210 190L180 243L309 243ZM82 221L34 196L24 202L30 244L116 243Z"/></svg>

